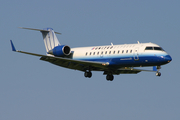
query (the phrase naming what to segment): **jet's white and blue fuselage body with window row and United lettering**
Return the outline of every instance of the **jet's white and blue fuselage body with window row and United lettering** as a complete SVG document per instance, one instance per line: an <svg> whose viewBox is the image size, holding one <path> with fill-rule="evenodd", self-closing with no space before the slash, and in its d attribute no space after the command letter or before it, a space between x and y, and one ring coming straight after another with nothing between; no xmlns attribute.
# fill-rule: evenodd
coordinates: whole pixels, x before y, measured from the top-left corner
<svg viewBox="0 0 180 120"><path fill-rule="evenodd" d="M146 47L153 49L146 50ZM110 65L120 66L162 65L167 62L165 58L170 57L154 43L79 47L72 48L72 52L72 59L75 60L108 62Z"/></svg>

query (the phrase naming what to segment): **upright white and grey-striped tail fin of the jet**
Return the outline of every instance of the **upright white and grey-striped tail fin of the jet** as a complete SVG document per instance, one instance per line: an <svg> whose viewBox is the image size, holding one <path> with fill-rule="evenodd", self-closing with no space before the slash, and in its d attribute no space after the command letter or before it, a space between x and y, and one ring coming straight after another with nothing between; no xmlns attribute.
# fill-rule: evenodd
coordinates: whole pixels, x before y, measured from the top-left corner
<svg viewBox="0 0 180 120"><path fill-rule="evenodd" d="M44 31L41 31L41 33L43 35L46 52L49 52L54 47L60 45L56 34L52 28L45 28Z"/></svg>

